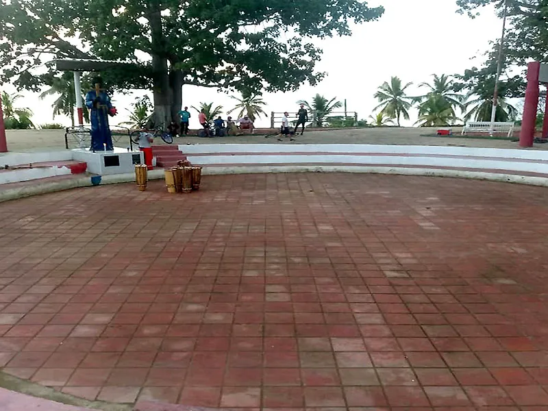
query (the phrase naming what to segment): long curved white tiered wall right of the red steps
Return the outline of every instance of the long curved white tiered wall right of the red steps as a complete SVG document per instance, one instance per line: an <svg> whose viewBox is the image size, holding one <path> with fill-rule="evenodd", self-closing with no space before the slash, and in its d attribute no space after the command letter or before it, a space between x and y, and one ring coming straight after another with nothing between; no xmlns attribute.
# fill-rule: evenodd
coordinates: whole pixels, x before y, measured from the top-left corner
<svg viewBox="0 0 548 411"><path fill-rule="evenodd" d="M393 145L180 145L194 164L413 166L548 175L548 151Z"/></svg>

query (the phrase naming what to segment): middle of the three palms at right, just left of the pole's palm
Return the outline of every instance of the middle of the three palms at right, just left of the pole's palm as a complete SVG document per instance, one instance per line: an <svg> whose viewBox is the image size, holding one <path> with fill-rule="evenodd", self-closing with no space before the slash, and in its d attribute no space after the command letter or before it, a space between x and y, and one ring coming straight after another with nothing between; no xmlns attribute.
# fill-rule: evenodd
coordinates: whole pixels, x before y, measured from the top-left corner
<svg viewBox="0 0 548 411"><path fill-rule="evenodd" d="M445 112L445 110L447 110L447 106L449 106L451 109L451 116L456 119L457 114L455 109L460 111L464 110L464 105L462 103L464 101L464 97L453 91L454 82L451 79L451 76L445 74L440 76L433 74L432 76L434 77L433 84L421 83L419 86L429 88L427 94L415 97L414 99L414 101L419 103L419 112L423 111L433 114L433 108L438 108ZM431 99L433 100L430 101ZM425 107L421 108L422 105L425 105ZM442 114L442 117L447 117L447 113Z"/></svg>

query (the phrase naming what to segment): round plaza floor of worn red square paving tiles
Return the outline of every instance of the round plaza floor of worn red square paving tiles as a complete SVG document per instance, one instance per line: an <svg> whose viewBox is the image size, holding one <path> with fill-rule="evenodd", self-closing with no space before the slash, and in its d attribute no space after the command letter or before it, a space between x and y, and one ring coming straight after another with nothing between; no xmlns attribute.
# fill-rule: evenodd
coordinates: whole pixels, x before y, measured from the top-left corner
<svg viewBox="0 0 548 411"><path fill-rule="evenodd" d="M0 365L116 402L547 410L546 193L303 173L1 203Z"/></svg>

